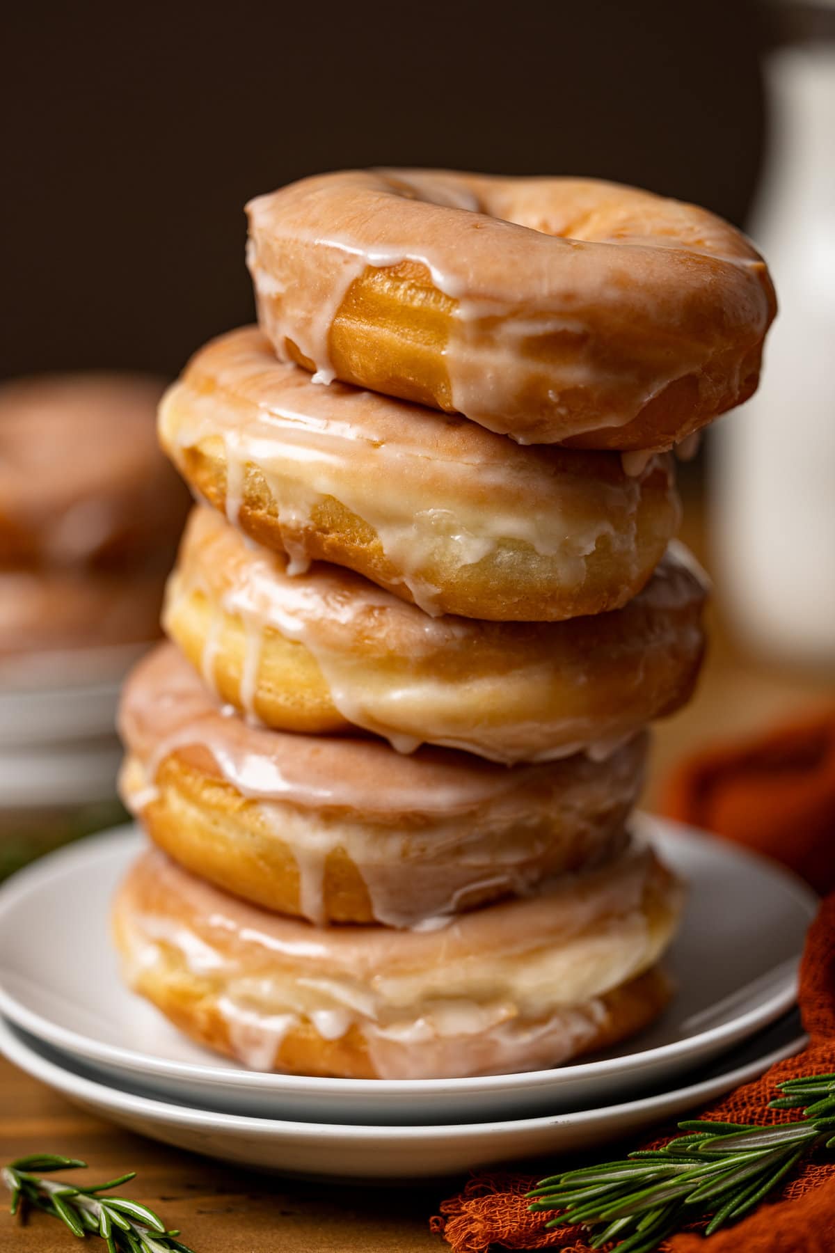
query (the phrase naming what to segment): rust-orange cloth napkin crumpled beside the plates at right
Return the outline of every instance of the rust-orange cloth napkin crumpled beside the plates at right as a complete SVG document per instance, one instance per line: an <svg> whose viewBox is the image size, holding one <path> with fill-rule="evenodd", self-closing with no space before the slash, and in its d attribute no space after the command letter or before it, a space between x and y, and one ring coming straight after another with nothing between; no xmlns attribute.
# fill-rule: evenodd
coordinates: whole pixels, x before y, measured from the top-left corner
<svg viewBox="0 0 835 1253"><path fill-rule="evenodd" d="M835 712L777 729L742 747L701 753L671 778L665 812L720 831L782 861L817 887L835 887ZM802 1053L691 1114L727 1121L792 1121L797 1110L769 1110L777 1083L835 1071L835 891L822 902L806 937L800 971L800 1012L810 1036ZM656 1145L672 1129L647 1141ZM618 1150L620 1152L620 1150ZM590 1253L577 1228L546 1230L531 1214L530 1175L479 1174L441 1204L432 1229L454 1253L561 1248ZM611 1245L610 1245L611 1247ZM735 1227L709 1239L694 1233L661 1245L669 1253L832 1253L835 1153L819 1154L776 1194Z"/></svg>

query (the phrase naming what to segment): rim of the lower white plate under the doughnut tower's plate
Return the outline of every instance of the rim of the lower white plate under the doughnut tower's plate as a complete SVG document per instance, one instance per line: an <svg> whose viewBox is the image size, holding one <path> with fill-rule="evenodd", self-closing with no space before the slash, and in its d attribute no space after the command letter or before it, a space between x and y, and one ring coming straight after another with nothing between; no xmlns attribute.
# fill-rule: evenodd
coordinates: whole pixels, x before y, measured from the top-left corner
<svg viewBox="0 0 835 1253"><path fill-rule="evenodd" d="M476 1139L494 1139L497 1136L501 1138L502 1135L536 1130L537 1128L576 1126L581 1124L587 1125L590 1123L600 1123L607 1118L617 1119L630 1111L650 1114L656 1109L658 1111L658 1118L661 1119L665 1113L665 1101L670 1099L680 1099L685 1095L687 1095L687 1099L690 1099L690 1096L694 1098L694 1105L699 1104L702 1098L705 1100L711 1100L712 1096L721 1095L724 1091L730 1091L732 1088L739 1086L740 1083L746 1083L750 1079L756 1078L759 1074L764 1074L776 1061L792 1056L805 1046L807 1040L809 1036L801 1032L785 1045L772 1049L770 1053L764 1054L754 1061L737 1066L735 1070L724 1071L712 1079L704 1079L697 1084L689 1084L684 1088L674 1088L650 1096L638 1096L636 1100L631 1101L618 1101L613 1105L598 1105L592 1106L591 1109L571 1110L561 1114L540 1114L521 1119L496 1119L489 1123L302 1123L293 1119L257 1118L250 1114L229 1114L222 1110L207 1110L193 1104L173 1104L158 1098L143 1096L139 1093L129 1093L124 1089L114 1088L110 1084L98 1083L95 1079L88 1079L85 1075L79 1075L68 1066L61 1066L56 1061L51 1061L49 1058L41 1056L36 1049L33 1049L26 1044L26 1041L20 1040L14 1029L14 1024L10 1026L5 1019L0 1016L0 1054L11 1061L13 1065L19 1065L21 1070L31 1075L34 1079L51 1086L53 1090L55 1090L56 1086L59 1091L68 1095L69 1089L70 1099L78 1098L79 1100L84 1100L85 1091L88 1091L91 1093L89 1099L96 1100L106 1109L121 1109L140 1116L143 1114L148 1118L155 1116L158 1120L166 1119L169 1123L175 1123L179 1126L190 1126L194 1129L215 1131L247 1131L254 1134L255 1139L269 1139L270 1134L278 1133L299 1136L307 1141L315 1141L323 1135L333 1139L342 1136L361 1140L383 1139L386 1141L396 1143L406 1140L431 1140L433 1136L438 1135L442 1138L468 1135L474 1136ZM20 1064L16 1060L19 1055L24 1055L28 1059L35 1059L34 1063L30 1063L33 1069ZM53 1085L50 1079L45 1078L45 1075L68 1078L61 1079L61 1083Z"/></svg>

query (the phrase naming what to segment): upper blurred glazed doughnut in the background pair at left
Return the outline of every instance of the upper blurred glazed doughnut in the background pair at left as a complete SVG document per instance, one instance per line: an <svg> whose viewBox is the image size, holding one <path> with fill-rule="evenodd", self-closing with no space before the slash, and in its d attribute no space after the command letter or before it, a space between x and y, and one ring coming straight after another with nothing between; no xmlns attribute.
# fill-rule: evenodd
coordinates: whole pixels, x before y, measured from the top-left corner
<svg viewBox="0 0 835 1253"><path fill-rule="evenodd" d="M170 560L188 495L156 444L161 392L141 375L0 386L0 566Z"/></svg>

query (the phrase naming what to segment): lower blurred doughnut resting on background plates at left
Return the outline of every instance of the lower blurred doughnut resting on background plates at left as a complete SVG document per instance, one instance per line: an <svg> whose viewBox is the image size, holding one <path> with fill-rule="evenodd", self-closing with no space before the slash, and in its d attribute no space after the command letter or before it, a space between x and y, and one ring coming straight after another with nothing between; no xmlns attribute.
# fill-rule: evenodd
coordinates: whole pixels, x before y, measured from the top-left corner
<svg viewBox="0 0 835 1253"><path fill-rule="evenodd" d="M158 639L164 584L159 573L0 570L0 672L46 653Z"/></svg>

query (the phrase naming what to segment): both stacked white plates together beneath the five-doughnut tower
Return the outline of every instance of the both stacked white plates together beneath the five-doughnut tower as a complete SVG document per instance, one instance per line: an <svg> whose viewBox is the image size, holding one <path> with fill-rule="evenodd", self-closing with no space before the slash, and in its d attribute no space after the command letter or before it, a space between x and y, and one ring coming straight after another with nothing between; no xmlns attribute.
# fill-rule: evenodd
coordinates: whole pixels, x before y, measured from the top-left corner
<svg viewBox="0 0 835 1253"><path fill-rule="evenodd" d="M126 991L109 902L131 827L44 858L0 890L0 1050L84 1108L169 1144L288 1174L416 1179L632 1135L802 1046L797 961L814 895L776 865L642 818L690 883L670 954L679 992L638 1037L553 1070L348 1080L247 1071Z"/></svg>

